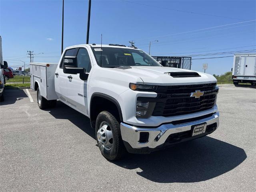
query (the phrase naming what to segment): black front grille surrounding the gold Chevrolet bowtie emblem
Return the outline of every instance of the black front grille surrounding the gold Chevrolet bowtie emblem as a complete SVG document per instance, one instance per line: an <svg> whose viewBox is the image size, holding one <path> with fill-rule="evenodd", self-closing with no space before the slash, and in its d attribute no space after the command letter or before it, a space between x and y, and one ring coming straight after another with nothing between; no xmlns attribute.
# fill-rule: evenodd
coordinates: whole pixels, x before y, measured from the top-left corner
<svg viewBox="0 0 256 192"><path fill-rule="evenodd" d="M212 108L218 89L216 83L182 86L159 86L152 116L177 116ZM190 97L196 90L204 91L200 98Z"/></svg>

